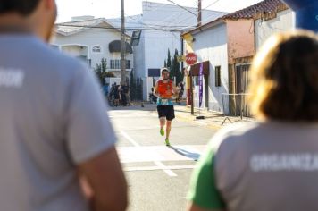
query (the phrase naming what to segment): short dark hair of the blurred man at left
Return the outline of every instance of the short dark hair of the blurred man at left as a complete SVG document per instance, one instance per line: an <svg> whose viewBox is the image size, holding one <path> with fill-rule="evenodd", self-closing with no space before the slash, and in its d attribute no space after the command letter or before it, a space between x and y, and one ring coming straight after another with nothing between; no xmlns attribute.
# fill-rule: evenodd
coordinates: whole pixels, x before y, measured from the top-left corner
<svg viewBox="0 0 318 211"><path fill-rule="evenodd" d="M27 16L38 6L40 0L0 0L0 15L4 13L20 13Z"/></svg>

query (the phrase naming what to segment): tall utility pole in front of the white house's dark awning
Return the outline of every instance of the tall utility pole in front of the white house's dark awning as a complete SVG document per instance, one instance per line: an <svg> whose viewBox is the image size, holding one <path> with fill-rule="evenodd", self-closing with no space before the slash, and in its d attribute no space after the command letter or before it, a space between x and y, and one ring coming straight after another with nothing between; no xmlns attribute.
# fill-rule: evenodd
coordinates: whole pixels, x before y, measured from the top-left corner
<svg viewBox="0 0 318 211"><path fill-rule="evenodd" d="M121 0L121 85L126 83L126 40L125 40L125 4Z"/></svg>

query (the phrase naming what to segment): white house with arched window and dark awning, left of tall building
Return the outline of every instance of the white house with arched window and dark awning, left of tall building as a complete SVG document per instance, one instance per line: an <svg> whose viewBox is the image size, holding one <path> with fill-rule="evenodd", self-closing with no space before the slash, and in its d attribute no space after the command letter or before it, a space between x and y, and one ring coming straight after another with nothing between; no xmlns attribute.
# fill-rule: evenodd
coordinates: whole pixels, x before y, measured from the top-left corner
<svg viewBox="0 0 318 211"><path fill-rule="evenodd" d="M92 16L72 18L70 22L58 23L52 46L66 54L73 55L94 69L102 58L106 60L107 71L121 77L121 31L104 18ZM126 35L126 38L129 38ZM126 70L129 77L133 67L130 44L126 44Z"/></svg>

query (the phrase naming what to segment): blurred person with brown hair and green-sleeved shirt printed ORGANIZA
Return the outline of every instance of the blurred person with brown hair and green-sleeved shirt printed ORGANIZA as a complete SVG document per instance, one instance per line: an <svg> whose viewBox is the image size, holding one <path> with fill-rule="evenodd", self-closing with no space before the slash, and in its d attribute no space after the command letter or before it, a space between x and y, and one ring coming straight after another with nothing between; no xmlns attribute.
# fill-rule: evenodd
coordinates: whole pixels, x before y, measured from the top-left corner
<svg viewBox="0 0 318 211"><path fill-rule="evenodd" d="M213 137L193 173L189 210L318 210L317 35L273 36L251 74L258 121Z"/></svg>

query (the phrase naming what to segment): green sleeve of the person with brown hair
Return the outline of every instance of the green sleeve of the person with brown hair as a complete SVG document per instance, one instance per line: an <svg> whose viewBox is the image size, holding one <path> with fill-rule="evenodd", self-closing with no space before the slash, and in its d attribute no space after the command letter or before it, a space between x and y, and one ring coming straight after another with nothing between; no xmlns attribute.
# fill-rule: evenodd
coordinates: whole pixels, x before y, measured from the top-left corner
<svg viewBox="0 0 318 211"><path fill-rule="evenodd" d="M198 207L206 209L222 209L225 203L216 188L214 171L215 152L209 148L197 164L192 174L188 199Z"/></svg>

